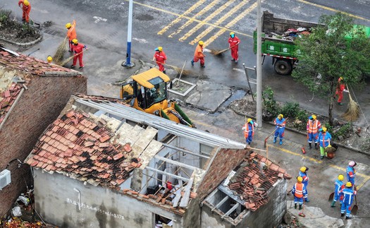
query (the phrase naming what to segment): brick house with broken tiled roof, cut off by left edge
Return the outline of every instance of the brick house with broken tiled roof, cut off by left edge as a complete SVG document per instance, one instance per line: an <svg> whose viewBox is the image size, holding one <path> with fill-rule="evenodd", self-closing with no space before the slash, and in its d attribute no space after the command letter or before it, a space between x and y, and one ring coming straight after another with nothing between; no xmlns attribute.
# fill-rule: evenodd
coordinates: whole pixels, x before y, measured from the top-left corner
<svg viewBox="0 0 370 228"><path fill-rule="evenodd" d="M23 160L37 138L66 106L86 92L87 78L55 64L18 54L0 44L0 215L32 186Z"/></svg>

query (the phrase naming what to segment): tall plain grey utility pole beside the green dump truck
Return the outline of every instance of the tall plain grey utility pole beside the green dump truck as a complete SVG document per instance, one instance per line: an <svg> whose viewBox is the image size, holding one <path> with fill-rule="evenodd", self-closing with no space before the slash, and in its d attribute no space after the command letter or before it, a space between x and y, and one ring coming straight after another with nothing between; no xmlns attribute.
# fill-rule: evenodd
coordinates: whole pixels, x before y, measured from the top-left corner
<svg viewBox="0 0 370 228"><path fill-rule="evenodd" d="M257 0L257 124L262 126L261 0Z"/></svg>

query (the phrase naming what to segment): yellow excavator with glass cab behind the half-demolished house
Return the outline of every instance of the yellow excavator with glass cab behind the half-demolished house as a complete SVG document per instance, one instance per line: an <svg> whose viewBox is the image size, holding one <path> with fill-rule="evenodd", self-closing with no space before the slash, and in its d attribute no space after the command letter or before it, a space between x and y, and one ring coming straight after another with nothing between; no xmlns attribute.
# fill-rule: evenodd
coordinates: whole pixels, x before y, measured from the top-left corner
<svg viewBox="0 0 370 228"><path fill-rule="evenodd" d="M131 76L131 79L121 88L121 99L127 100L131 107L195 128L178 104L168 100L167 83L170 78L166 74L151 68Z"/></svg>

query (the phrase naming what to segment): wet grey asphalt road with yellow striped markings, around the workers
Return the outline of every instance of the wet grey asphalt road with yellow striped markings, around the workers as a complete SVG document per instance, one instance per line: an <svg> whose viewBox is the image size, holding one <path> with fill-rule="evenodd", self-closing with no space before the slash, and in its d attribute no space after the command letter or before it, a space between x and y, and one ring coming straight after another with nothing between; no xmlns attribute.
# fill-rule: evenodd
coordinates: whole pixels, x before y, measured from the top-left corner
<svg viewBox="0 0 370 228"><path fill-rule="evenodd" d="M78 40L91 47L84 55L85 68L83 69L83 73L88 77L88 92L94 95L118 97L118 88L113 88L111 83L125 80L134 73L121 66L121 63L125 61L127 47L128 1L34 0L31 4L33 20L40 23L52 22L51 27L42 28L44 40L37 44L40 50L32 56L46 59L49 54L53 54L66 36L64 25L75 19ZM185 70L190 74L183 76L182 79L196 83L199 78L202 78L209 83L220 83L235 88L235 90L247 90L245 74L240 69L242 63L249 67L256 65L255 55L252 52L252 32L256 28L256 6L255 1L235 0L135 1L132 20L132 58L150 61L154 48L162 46L168 56L168 64L182 67L184 61L187 60ZM275 16L281 18L317 22L321 14L335 13L335 10L340 10L350 13L357 23L367 26L370 26L369 7L368 0L262 1L263 10L275 13ZM21 11L16 1L1 1L0 8L11 9L20 20ZM206 68L199 68L199 64L194 67L190 65L195 43L203 40L208 49L227 48L230 31L234 31L242 40L239 64L233 64L230 61L230 53L226 52L222 56L207 54ZM30 47L23 51L30 53L35 48ZM327 113L324 100L307 91L302 85L295 83L289 76L276 75L271 66L271 59L267 58L263 66L263 83L273 88L277 100L297 101L305 109L319 114ZM252 84L252 90L255 91L254 84ZM369 94L370 81L364 90L356 91L359 104L367 116L367 121L370 122ZM345 102L347 99L346 97ZM340 116L344 111L345 107L335 106L335 116ZM215 116L192 110L188 112L192 119L196 120L199 128L233 140L242 140L240 123L243 121L243 116L238 116L228 109ZM366 122L362 119L359 124L366 125ZM254 146L263 148L264 134L271 132L271 128L264 126L259 132ZM300 147L304 144L304 136L295 136L291 133L289 137L287 136L287 143L284 147L271 147L270 156L279 164L288 167L288 171L293 176L302 164L313 168L310 169L314 176L312 178L312 205L317 205L330 216L337 216L338 212L331 210L323 198L326 198L326 195L332 191L333 178L335 179L338 172L343 172L349 160L361 161L361 173L364 176L360 177L360 181L364 193L369 193L370 186L367 181L370 175L368 173L369 157L343 149L340 150L336 160L321 162L317 160L318 155L315 152L302 157ZM360 200L362 212L359 216L364 220L359 220L359 222L362 221L363 224L369 222L369 204L367 203L369 200L369 194L363 194Z"/></svg>

